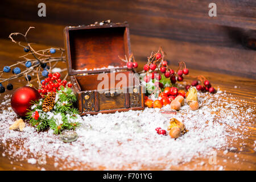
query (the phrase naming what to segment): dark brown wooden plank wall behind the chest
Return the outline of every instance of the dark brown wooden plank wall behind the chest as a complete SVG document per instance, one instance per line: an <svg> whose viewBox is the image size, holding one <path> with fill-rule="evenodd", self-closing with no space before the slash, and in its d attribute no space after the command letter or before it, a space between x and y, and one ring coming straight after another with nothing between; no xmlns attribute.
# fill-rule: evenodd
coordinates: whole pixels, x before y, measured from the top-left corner
<svg viewBox="0 0 256 182"><path fill-rule="evenodd" d="M46 17L38 3L46 3ZM208 5L217 5L217 17ZM142 64L162 46L171 64L256 78L256 1L18 1L0 2L1 34L26 32L31 42L63 47L63 28L111 19L129 22L131 49Z"/></svg>

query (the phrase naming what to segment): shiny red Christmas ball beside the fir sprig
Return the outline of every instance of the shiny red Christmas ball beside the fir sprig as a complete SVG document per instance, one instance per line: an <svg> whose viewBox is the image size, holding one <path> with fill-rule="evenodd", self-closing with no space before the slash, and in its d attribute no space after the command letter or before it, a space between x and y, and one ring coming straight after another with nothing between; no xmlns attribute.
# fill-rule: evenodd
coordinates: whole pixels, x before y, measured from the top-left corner
<svg viewBox="0 0 256 182"><path fill-rule="evenodd" d="M31 102L40 98L41 96L38 90L31 86L22 86L16 89L13 96L11 96L11 107L16 114L25 117L28 111L27 109L30 109L32 105Z"/></svg>

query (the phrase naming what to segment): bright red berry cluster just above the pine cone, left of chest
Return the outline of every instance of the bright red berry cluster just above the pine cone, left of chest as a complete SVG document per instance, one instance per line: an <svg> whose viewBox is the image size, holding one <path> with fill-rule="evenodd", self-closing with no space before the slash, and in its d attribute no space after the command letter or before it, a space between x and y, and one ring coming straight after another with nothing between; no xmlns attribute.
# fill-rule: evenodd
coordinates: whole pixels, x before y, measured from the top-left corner
<svg viewBox="0 0 256 182"><path fill-rule="evenodd" d="M49 73L48 77L42 81L42 89L38 89L38 92L42 95L47 95L49 92L57 92L61 89L61 86L67 85L67 80L60 79L60 73ZM72 84L68 84L68 87L71 88Z"/></svg>

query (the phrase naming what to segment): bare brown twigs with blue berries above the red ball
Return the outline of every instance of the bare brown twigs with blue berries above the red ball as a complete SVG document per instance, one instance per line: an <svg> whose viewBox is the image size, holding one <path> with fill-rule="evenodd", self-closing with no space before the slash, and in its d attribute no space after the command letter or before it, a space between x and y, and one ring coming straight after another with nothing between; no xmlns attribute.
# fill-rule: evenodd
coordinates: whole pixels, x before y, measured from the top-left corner
<svg viewBox="0 0 256 182"><path fill-rule="evenodd" d="M48 48L36 51L31 43L28 42L27 34L34 27L28 28L26 34L22 33L12 33L9 35L9 38L12 42L17 43L20 47L23 48L23 51L26 53L23 56L20 56L20 59L25 59L23 61L18 61L13 65L6 65L3 67L3 70L0 71L0 93L5 92L5 86L3 83L7 82L7 90L13 89L13 84L9 81L14 80L18 77L23 77L24 80L30 84L32 76L36 75L39 77L47 77L48 73L51 72L52 68L56 66L59 61L65 61L64 59L64 49L63 48ZM24 43L16 42L13 36L22 36ZM61 53L60 57L52 57L53 54L59 51ZM31 58L32 57L32 58ZM64 71L64 70L63 70ZM13 73L10 75L9 73Z"/></svg>

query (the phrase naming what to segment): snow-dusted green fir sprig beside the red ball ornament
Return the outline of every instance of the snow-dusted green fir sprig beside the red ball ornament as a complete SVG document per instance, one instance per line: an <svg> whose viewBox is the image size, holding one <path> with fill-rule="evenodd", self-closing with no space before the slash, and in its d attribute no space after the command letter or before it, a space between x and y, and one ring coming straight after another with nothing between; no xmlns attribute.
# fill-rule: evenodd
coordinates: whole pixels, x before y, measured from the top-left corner
<svg viewBox="0 0 256 182"><path fill-rule="evenodd" d="M76 102L76 96L71 88L64 88L56 92L55 105L47 113L42 110L43 98L33 102L31 110L27 113L27 118L32 126L38 131L44 131L48 128L53 130L54 134L60 134L63 130L75 130L81 125L79 111L73 107ZM38 114L39 117L35 117Z"/></svg>

